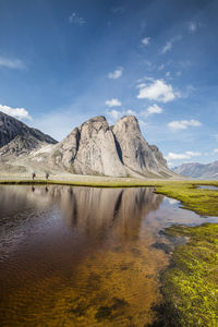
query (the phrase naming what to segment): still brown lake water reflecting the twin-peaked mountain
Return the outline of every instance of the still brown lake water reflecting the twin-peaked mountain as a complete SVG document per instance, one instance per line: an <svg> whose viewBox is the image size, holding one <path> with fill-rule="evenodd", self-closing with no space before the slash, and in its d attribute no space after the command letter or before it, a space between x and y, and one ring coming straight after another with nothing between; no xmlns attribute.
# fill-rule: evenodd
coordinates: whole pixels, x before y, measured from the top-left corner
<svg viewBox="0 0 218 327"><path fill-rule="evenodd" d="M171 251L160 231L203 222L178 204L152 189L0 186L0 326L152 324Z"/></svg>

